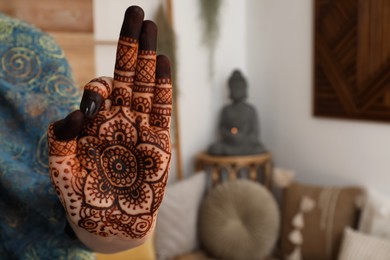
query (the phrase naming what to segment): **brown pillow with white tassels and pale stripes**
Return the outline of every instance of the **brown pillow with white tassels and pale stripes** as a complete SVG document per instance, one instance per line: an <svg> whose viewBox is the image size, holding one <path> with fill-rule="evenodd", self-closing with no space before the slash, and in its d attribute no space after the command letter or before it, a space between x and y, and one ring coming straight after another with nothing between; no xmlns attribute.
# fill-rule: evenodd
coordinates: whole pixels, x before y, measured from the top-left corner
<svg viewBox="0 0 390 260"><path fill-rule="evenodd" d="M332 188L295 183L282 203L281 253L288 259L329 259L339 253L345 227L356 227L357 187Z"/></svg>

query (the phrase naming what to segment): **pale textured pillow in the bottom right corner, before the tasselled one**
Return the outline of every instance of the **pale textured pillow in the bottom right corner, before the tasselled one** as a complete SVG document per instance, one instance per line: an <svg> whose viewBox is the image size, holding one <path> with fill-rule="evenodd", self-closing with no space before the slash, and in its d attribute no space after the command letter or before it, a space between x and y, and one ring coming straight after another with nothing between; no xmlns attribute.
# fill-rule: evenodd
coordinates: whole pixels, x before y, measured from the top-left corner
<svg viewBox="0 0 390 260"><path fill-rule="evenodd" d="M390 241L346 228L339 260L389 260Z"/></svg>

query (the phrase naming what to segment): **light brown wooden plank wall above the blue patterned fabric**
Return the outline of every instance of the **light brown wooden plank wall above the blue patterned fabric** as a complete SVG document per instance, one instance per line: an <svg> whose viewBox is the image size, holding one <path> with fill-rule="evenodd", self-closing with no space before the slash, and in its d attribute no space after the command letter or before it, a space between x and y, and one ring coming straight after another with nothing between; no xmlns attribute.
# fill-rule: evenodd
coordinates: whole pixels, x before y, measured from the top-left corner
<svg viewBox="0 0 390 260"><path fill-rule="evenodd" d="M95 77L92 0L0 0L0 11L52 35L80 88Z"/></svg>

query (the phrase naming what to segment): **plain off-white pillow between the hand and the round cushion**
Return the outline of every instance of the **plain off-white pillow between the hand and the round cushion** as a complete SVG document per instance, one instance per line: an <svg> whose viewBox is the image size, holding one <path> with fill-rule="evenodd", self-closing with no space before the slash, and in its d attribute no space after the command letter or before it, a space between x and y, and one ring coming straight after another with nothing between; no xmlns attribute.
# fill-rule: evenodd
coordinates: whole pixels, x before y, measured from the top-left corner
<svg viewBox="0 0 390 260"><path fill-rule="evenodd" d="M157 259L172 259L198 248L198 214L206 178L200 172L167 187L155 230Z"/></svg>

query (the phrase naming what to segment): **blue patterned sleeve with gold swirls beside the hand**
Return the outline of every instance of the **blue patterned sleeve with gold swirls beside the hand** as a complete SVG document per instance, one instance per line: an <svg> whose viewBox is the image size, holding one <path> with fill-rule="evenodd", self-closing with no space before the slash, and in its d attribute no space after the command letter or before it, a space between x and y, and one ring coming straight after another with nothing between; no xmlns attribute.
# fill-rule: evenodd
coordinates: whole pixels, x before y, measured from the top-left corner
<svg viewBox="0 0 390 260"><path fill-rule="evenodd" d="M94 259L66 232L48 173L46 129L78 107L63 50L0 13L0 259Z"/></svg>

